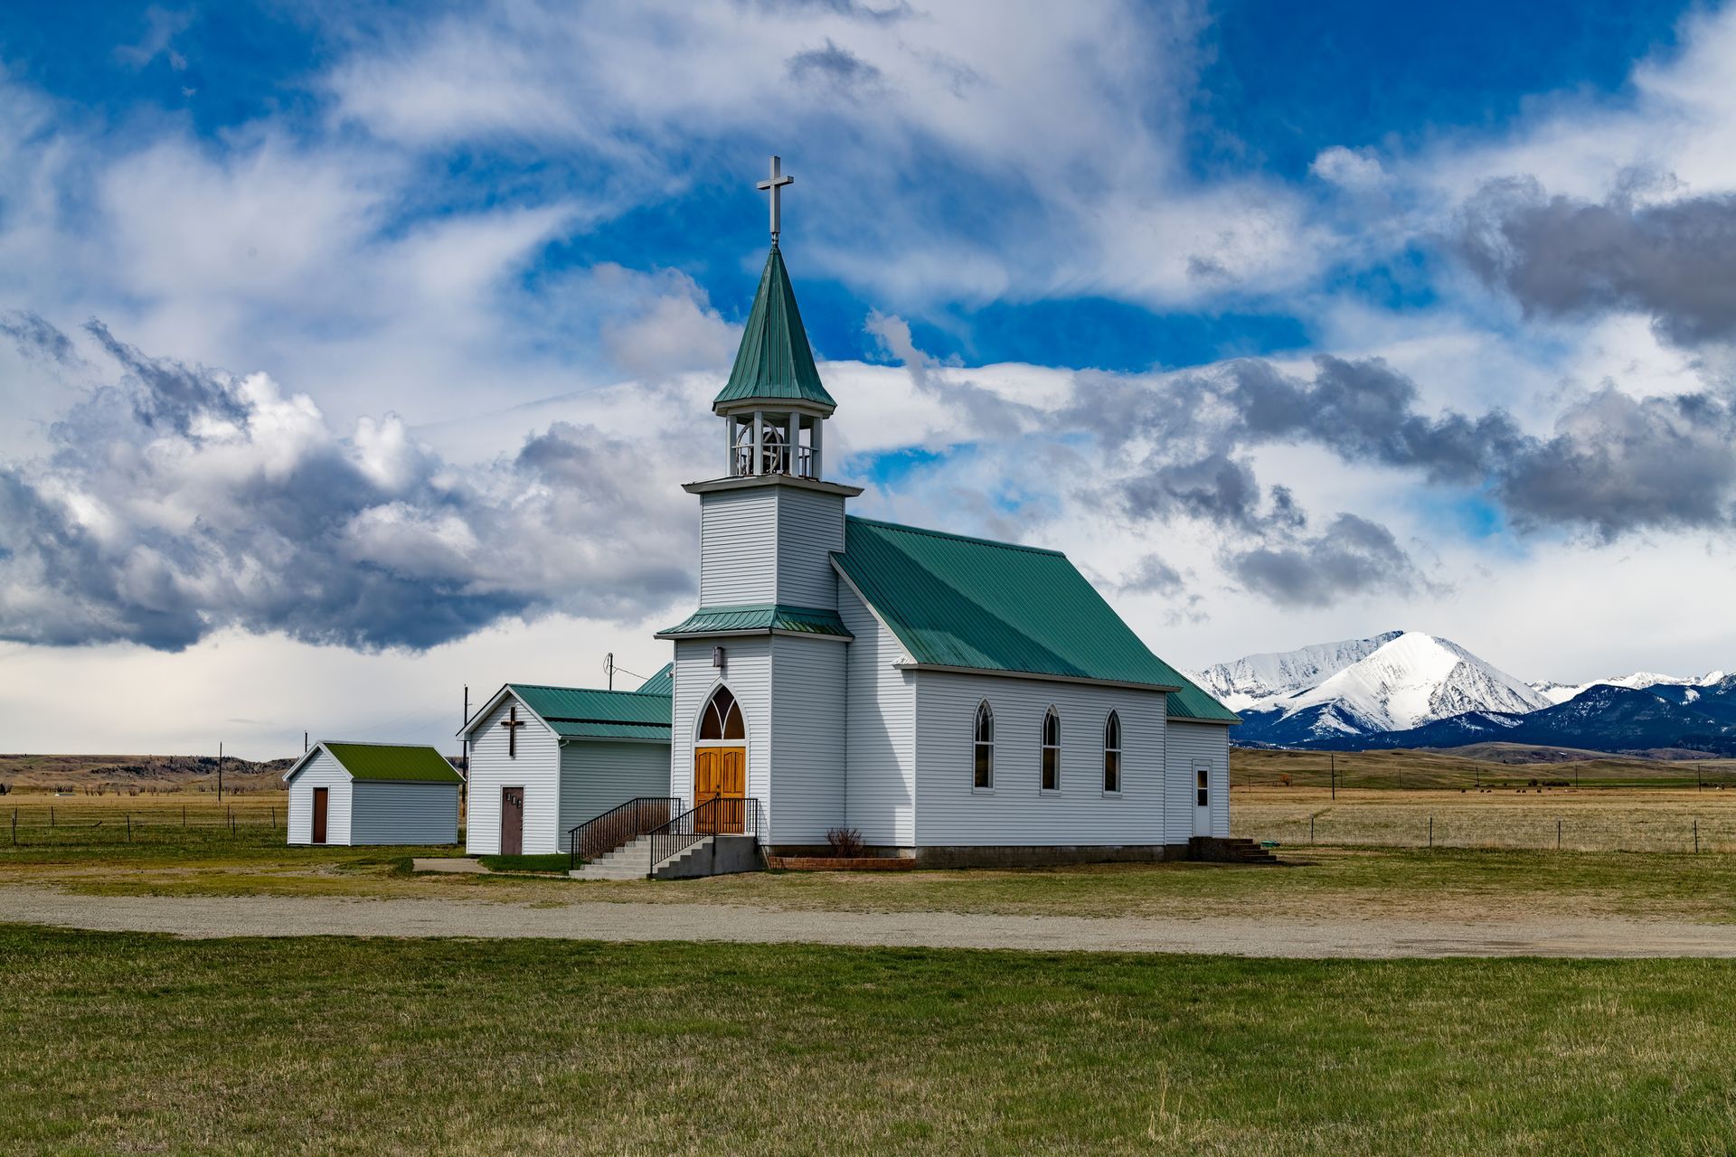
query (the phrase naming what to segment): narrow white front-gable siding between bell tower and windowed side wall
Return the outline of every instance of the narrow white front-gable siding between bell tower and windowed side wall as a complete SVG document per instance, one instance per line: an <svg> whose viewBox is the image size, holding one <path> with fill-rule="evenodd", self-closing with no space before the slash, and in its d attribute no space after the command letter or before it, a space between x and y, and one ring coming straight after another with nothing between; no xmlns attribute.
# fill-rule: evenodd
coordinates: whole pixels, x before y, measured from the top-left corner
<svg viewBox="0 0 1736 1157"><path fill-rule="evenodd" d="M917 675L892 664L904 649L847 583L838 614L856 637L845 649L844 822L878 847L917 843Z"/></svg>

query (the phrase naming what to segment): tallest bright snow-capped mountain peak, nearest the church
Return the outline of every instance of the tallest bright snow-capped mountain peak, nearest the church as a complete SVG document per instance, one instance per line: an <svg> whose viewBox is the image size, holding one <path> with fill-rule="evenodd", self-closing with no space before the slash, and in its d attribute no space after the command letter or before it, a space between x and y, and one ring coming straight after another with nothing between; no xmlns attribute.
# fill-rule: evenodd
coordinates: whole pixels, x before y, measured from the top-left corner
<svg viewBox="0 0 1736 1157"><path fill-rule="evenodd" d="M1241 711L1238 742L1309 742L1549 706L1529 683L1422 631L1248 656L1201 671L1200 683Z"/></svg>

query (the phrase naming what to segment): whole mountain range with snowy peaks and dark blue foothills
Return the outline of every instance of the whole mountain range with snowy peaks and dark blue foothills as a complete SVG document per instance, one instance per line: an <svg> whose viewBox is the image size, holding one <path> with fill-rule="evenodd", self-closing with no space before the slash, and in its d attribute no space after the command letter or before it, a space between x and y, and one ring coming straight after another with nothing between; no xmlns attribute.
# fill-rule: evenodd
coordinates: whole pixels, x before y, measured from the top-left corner
<svg viewBox="0 0 1736 1157"><path fill-rule="evenodd" d="M1651 671L1524 682L1422 631L1219 663L1194 682L1243 718L1243 746L1356 751L1519 742L1736 755L1736 677Z"/></svg>

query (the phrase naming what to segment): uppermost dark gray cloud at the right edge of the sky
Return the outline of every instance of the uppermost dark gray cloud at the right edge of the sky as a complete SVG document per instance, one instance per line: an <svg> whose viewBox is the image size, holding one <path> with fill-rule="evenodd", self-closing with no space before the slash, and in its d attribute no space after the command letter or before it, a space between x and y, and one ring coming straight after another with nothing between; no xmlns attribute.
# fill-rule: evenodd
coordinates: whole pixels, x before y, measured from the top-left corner
<svg viewBox="0 0 1736 1157"><path fill-rule="evenodd" d="M1637 205L1491 182L1465 206L1457 248L1528 314L1647 314L1679 345L1736 337L1736 196Z"/></svg>

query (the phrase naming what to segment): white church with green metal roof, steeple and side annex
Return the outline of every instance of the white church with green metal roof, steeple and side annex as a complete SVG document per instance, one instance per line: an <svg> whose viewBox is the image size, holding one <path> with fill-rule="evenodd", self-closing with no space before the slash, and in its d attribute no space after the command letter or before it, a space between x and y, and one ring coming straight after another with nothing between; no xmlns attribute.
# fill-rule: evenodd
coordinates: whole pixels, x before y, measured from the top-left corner
<svg viewBox="0 0 1736 1157"><path fill-rule="evenodd" d="M1212 855L1236 715L1066 555L849 513L826 392L773 243L700 501L700 598L637 692L507 683L465 725L470 853L628 874L696 845L932 866Z"/></svg>

